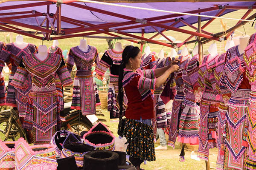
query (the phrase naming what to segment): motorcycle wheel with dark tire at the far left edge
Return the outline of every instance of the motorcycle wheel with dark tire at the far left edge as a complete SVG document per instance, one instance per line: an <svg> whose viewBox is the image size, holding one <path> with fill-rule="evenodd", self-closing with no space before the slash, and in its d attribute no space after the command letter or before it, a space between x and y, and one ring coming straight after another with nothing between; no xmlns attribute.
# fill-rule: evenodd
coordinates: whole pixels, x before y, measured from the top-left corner
<svg viewBox="0 0 256 170"><path fill-rule="evenodd" d="M5 125L6 126L3 126L3 123L4 122L6 122L5 123ZM4 134L4 132L6 133L7 132L7 130L8 130L8 122L9 122L9 118L7 118L7 117L1 117L0 118L0 139L2 140L2 141L6 141L5 140L5 134ZM13 129L13 128L15 128L15 129ZM17 131L17 133L19 133L20 135L19 136L17 136L16 138L17 139L12 139L12 137L10 137L9 136L9 139L7 139L7 141L16 141L16 140L18 140L19 138L24 138L24 136L23 136L23 133L22 133L22 130L21 129L19 129L18 128L18 125L16 124L16 122L13 122L12 123L12 129L11 129L11 132L10 132L10 134L12 133L12 131ZM14 132L15 133L15 132Z"/></svg>

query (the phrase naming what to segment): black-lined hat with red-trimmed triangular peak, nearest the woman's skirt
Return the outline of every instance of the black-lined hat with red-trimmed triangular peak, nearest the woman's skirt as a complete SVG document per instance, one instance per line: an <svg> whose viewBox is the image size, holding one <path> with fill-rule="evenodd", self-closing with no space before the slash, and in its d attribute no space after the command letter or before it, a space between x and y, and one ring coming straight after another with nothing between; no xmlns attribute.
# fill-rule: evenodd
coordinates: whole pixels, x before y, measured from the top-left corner
<svg viewBox="0 0 256 170"><path fill-rule="evenodd" d="M84 143L95 147L96 150L114 150L115 136L102 122L93 126L83 136Z"/></svg>

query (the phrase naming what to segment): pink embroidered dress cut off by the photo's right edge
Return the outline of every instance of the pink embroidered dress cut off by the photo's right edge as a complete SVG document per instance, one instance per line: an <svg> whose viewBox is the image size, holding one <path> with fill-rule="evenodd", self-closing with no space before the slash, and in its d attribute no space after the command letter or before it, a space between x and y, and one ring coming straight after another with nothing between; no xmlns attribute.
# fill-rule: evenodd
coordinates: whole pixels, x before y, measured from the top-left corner
<svg viewBox="0 0 256 170"><path fill-rule="evenodd" d="M252 34L244 50L246 77L251 85L248 111L247 156L244 158L246 170L256 170L256 34Z"/></svg>

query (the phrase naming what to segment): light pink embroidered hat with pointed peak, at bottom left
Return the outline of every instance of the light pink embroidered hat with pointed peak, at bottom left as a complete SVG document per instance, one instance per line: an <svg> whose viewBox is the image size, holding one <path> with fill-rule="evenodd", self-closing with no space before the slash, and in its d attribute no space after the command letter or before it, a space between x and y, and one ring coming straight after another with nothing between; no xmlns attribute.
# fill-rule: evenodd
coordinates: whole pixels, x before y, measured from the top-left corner
<svg viewBox="0 0 256 170"><path fill-rule="evenodd" d="M44 169L43 167L56 170L58 164L55 157L54 145L29 146L23 138L15 144L15 170Z"/></svg>

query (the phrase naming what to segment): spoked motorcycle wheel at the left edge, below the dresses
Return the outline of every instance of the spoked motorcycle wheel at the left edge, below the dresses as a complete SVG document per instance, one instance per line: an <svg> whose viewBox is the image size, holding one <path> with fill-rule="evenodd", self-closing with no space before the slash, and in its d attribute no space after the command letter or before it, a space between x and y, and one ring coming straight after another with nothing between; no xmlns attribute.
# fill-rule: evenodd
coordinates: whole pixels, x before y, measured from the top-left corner
<svg viewBox="0 0 256 170"><path fill-rule="evenodd" d="M16 122L12 122L9 138L7 139L5 134L8 130L9 119L7 117L0 118L0 139L2 141L17 141L19 138L24 138L22 131L18 128Z"/></svg>

